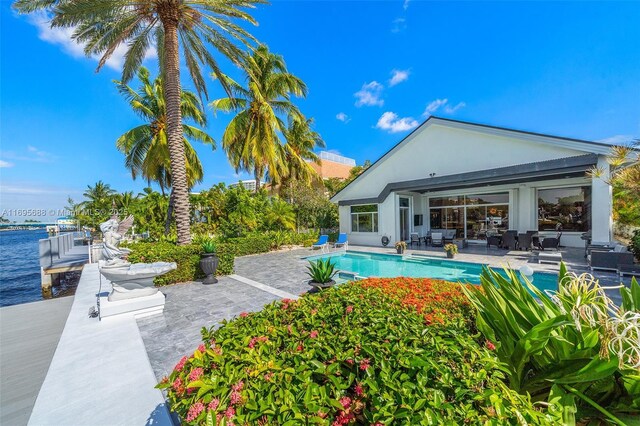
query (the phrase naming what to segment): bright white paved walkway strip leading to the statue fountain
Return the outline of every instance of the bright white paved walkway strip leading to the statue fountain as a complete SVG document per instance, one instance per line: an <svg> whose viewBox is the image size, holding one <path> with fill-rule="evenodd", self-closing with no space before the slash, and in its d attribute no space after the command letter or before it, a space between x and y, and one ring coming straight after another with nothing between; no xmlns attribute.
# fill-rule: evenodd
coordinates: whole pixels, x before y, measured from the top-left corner
<svg viewBox="0 0 640 426"><path fill-rule="evenodd" d="M96 305L99 277L97 264L84 267L29 425L169 426L133 316L103 321L88 316ZM102 291L109 287L103 279Z"/></svg>

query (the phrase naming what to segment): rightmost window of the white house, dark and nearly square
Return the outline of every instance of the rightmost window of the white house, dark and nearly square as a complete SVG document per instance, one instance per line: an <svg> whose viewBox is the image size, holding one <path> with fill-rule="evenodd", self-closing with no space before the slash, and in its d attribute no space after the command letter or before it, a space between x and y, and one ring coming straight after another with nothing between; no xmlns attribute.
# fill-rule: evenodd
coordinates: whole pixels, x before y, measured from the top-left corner
<svg viewBox="0 0 640 426"><path fill-rule="evenodd" d="M591 228L591 187L538 190L538 230L586 232Z"/></svg>

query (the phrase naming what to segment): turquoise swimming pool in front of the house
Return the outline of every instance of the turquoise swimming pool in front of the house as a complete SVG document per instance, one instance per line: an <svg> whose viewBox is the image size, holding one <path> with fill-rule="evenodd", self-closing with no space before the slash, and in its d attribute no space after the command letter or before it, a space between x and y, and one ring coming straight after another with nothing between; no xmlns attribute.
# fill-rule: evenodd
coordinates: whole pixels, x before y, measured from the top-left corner
<svg viewBox="0 0 640 426"><path fill-rule="evenodd" d="M395 256L390 254L364 252L336 252L307 257L307 260L331 258L336 269L343 273L353 273L359 277L414 277L437 278L447 281L462 281L480 284L482 264L459 262L454 260L426 256ZM493 268L502 275L502 268ZM506 276L506 275L505 275ZM540 290L556 290L558 276L555 274L534 272L533 284Z"/></svg>

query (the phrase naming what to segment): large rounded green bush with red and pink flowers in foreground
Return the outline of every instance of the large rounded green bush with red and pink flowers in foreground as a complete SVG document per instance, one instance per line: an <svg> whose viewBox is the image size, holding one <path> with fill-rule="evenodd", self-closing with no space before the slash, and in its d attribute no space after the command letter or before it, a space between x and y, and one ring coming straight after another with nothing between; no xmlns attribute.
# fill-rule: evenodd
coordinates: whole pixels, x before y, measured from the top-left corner
<svg viewBox="0 0 640 426"><path fill-rule="evenodd" d="M194 425L557 420L503 384L462 297L441 281L376 279L285 299L203 329L158 387Z"/></svg>

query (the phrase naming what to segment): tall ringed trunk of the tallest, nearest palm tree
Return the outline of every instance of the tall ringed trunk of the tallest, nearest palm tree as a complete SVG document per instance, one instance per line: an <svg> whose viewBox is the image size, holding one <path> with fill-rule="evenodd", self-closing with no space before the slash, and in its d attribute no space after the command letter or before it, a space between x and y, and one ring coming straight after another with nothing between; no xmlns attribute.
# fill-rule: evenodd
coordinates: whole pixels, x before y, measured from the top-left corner
<svg viewBox="0 0 640 426"><path fill-rule="evenodd" d="M171 186L174 193L174 210L178 244L191 242L189 230L189 188L185 165L180 111L180 52L178 47L178 2L171 2L160 12L164 27L164 59L162 79L167 110L167 143L171 164Z"/></svg>

